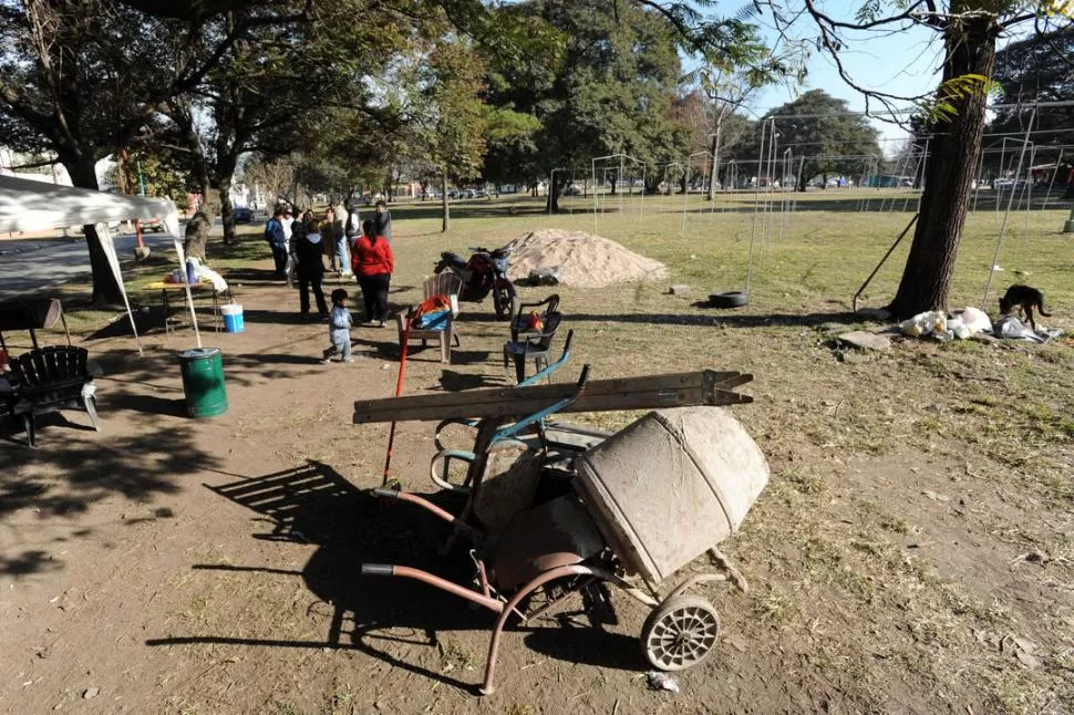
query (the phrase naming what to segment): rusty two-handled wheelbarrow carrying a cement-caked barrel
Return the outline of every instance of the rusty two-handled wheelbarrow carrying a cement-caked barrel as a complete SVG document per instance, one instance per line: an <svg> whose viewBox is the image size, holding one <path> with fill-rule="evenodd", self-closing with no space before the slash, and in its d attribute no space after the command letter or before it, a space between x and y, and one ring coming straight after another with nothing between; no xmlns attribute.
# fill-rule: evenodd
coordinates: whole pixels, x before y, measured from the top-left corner
<svg viewBox="0 0 1074 715"><path fill-rule="evenodd" d="M577 406L585 390L584 373L560 408ZM547 416L547 408L541 412ZM533 413L516 424L539 418ZM590 604L606 602L607 584L650 609L640 635L650 665L680 671L704 661L717 643L720 616L689 591L715 580L747 588L716 547L737 529L768 478L744 428L712 407L651 412L577 457L569 479L559 473L549 478L558 488L543 490L544 500L519 510L495 535L467 518L469 505L455 516L415 495L374 489L431 511L473 541L476 588L405 566L363 563L362 573L415 579L498 615L482 694L495 690L499 641L512 615L529 622L575 593ZM472 499L479 475L473 486ZM677 572L706 551L721 572L674 583Z"/></svg>

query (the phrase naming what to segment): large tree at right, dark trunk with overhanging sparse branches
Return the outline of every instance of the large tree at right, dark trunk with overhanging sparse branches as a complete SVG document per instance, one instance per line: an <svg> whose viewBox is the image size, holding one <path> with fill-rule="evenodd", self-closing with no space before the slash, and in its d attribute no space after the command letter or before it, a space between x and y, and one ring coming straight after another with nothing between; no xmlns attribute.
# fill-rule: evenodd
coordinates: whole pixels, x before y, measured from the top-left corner
<svg viewBox="0 0 1074 715"><path fill-rule="evenodd" d="M785 40L799 48L818 48L828 56L843 80L863 94L867 113L880 110L890 121L908 125L911 114L905 110L910 102L927 120L932 138L920 215L902 279L888 308L897 317L943 310L975 178L996 40L1004 34L1047 32L1068 25L1071 19L1058 13L1063 3L1057 2L908 0L886 6L869 1L853 19L828 14L816 0L803 3L765 3ZM855 80L843 58L848 46L863 40L879 42L886 34L912 28L934 32L940 40L941 74L934 91L900 96Z"/></svg>

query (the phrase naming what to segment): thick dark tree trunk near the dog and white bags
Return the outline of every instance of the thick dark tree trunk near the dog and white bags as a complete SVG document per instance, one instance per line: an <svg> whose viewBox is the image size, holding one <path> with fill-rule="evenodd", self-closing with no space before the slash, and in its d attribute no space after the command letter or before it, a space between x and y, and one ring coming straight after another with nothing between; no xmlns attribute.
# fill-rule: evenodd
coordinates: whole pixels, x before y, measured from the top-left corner
<svg viewBox="0 0 1074 715"><path fill-rule="evenodd" d="M948 27L943 80L967 74L992 76L998 33L998 25L988 17L965 19L959 28ZM888 307L899 318L947 309L984 133L985 87L952 103L958 113L944 126L936 127L940 131L930 143L932 158L926 168L920 217L899 290Z"/></svg>

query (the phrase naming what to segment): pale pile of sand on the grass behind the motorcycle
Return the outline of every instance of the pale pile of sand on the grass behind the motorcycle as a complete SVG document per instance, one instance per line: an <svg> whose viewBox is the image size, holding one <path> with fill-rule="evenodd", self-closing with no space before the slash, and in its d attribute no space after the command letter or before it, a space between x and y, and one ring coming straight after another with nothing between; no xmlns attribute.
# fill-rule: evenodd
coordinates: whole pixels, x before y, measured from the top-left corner
<svg viewBox="0 0 1074 715"><path fill-rule="evenodd" d="M560 283L579 288L668 277L668 268L660 261L585 231L530 231L508 246L514 249L507 273L513 281L525 280L530 271L543 269L559 269Z"/></svg>

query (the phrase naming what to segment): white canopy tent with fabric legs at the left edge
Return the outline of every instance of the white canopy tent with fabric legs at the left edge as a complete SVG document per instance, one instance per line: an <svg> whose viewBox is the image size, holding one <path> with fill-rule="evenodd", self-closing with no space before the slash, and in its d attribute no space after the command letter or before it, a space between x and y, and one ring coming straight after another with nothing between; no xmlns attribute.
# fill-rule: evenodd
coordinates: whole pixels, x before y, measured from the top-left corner
<svg viewBox="0 0 1074 715"><path fill-rule="evenodd" d="M0 175L0 232L47 231L59 230L72 226L92 224L96 227L97 236L109 257L109 265L116 282L123 292L123 302L131 330L142 352L142 341L138 339L131 303L123 284L120 270L120 259L112 242L109 224L113 221L128 221L134 219L159 218L164 230L172 235L183 274L186 274L183 256L183 243L179 234L179 215L175 204L168 199L147 198L144 196L126 196L107 194L84 188L55 186L43 182L35 182L18 176ZM187 305L195 319L195 334L200 346L200 334L197 333L197 319L194 313L194 300L190 288L186 289Z"/></svg>

